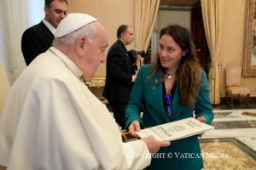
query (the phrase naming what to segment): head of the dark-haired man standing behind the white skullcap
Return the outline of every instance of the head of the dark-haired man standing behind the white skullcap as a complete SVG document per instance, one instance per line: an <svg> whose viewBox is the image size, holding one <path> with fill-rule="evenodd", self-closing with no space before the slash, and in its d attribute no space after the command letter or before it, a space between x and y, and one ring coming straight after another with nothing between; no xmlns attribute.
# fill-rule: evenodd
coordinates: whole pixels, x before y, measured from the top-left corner
<svg viewBox="0 0 256 170"><path fill-rule="evenodd" d="M67 3L65 1L55 0L50 3L49 8L44 7L44 13L45 20L56 28L67 15Z"/></svg>

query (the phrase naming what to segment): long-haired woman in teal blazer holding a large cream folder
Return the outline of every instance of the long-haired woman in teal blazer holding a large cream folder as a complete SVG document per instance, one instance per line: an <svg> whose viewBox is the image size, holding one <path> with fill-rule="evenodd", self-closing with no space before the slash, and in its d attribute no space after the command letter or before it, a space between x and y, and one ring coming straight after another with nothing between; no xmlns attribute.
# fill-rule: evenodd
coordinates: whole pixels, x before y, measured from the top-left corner
<svg viewBox="0 0 256 170"><path fill-rule="evenodd" d="M136 136L136 131L143 127L192 116L211 124L207 75L196 58L189 31L181 26L162 29L155 59L151 65L143 65L137 74L125 115L129 132ZM203 168L202 158L198 136L192 136L161 148L147 169L196 170Z"/></svg>

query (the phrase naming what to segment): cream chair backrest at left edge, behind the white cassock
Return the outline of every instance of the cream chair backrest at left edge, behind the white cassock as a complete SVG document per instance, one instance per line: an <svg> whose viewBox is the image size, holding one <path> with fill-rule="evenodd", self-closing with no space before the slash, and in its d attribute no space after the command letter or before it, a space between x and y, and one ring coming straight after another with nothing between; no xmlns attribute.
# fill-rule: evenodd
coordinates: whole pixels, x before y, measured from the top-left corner
<svg viewBox="0 0 256 170"><path fill-rule="evenodd" d="M3 65L0 61L0 118L3 112L3 105L5 103L5 99L9 94L9 80L6 74L6 71L3 68Z"/></svg>

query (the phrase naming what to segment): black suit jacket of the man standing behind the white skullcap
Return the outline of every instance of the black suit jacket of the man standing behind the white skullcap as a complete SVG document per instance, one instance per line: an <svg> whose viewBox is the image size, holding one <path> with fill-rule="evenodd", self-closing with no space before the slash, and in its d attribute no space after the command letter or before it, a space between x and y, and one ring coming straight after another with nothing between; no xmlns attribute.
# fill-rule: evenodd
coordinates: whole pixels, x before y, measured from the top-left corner
<svg viewBox="0 0 256 170"><path fill-rule="evenodd" d="M29 65L38 54L44 53L51 46L54 38L43 21L26 29L21 38L21 50L26 65Z"/></svg>

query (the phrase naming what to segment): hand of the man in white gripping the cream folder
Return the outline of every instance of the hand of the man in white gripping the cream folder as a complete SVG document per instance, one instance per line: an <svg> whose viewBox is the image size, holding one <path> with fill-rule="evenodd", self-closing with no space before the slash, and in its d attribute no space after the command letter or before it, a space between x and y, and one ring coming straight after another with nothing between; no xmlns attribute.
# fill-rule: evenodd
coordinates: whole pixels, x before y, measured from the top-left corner
<svg viewBox="0 0 256 170"><path fill-rule="evenodd" d="M166 147L171 144L169 141L155 140L153 136L148 136L147 138L143 138L142 140L147 145L148 150L151 154L156 153L160 149L160 147Z"/></svg>

